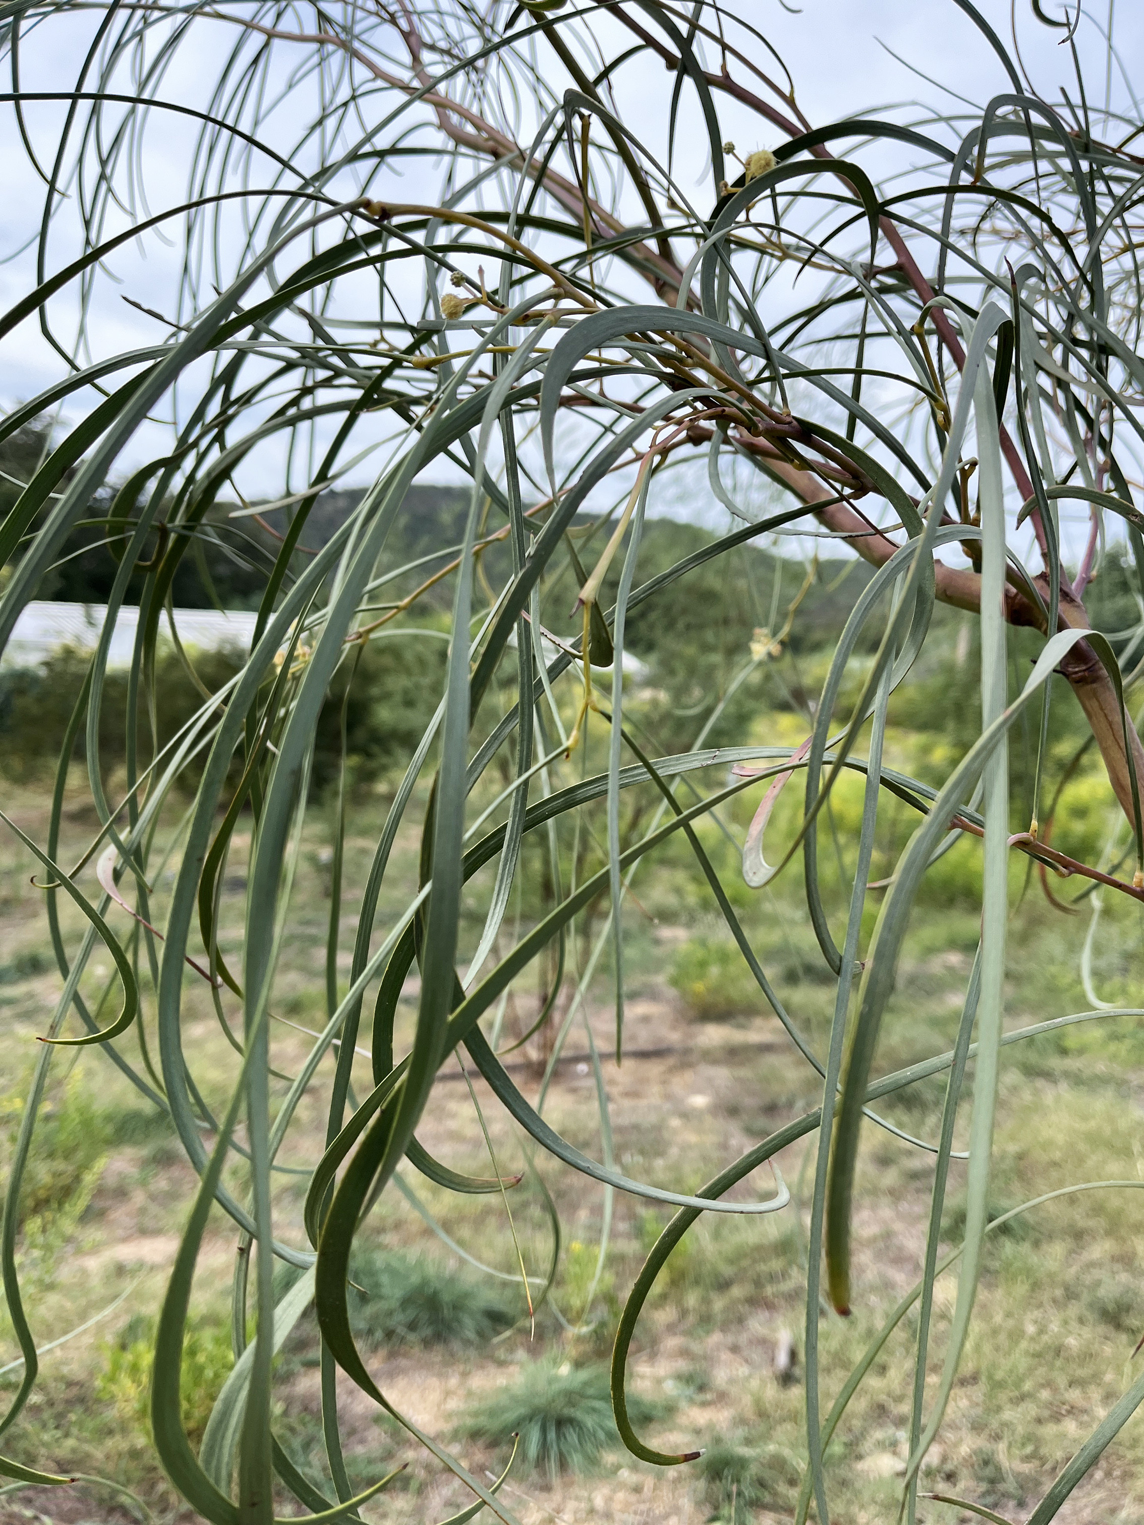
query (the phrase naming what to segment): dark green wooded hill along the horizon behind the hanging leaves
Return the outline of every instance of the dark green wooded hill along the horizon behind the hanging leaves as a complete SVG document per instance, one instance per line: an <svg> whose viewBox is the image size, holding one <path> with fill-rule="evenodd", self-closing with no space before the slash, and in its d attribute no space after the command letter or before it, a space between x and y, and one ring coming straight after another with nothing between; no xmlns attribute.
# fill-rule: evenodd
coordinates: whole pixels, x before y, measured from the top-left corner
<svg viewBox="0 0 1144 1525"><path fill-rule="evenodd" d="M0 445L0 514L15 503L20 483L34 476L46 442L46 430L26 425ZM108 512L111 491L101 493L92 503L90 518ZM346 515L362 500L362 490L323 493L314 503L300 537L294 567L300 570L308 554L323 546ZM400 567L429 557L442 547L459 544L464 535L470 494L464 486L412 486L389 532L383 552L383 567ZM233 503L215 503L206 518L206 538L197 538L183 555L174 578L174 602L183 608L250 610L258 605L265 575L273 564L294 508L272 509L264 523L255 517L232 518ZM259 515L262 517L262 515ZM584 541L590 520L574 526L574 543L587 567L603 547L603 535ZM497 508L487 515L487 532L503 528ZM56 566L46 573L38 598L79 604L107 601L117 564L104 544L105 531L87 523L69 538ZM639 581L665 570L683 557L709 544L715 537L673 518L648 520L639 561ZM493 586L502 584L511 570L506 540L484 552L484 573ZM622 557L618 557L606 583L606 595L615 592ZM403 573L387 586L386 598L413 592L427 576L441 570L444 560L430 561L410 573ZM575 573L570 561L554 563L558 583L549 584L545 618L561 637L575 634L574 616ZM801 593L805 564L793 557L775 555L755 544L743 544L732 555L720 557L688 573L679 583L659 592L651 601L635 608L628 621L631 650L651 662L659 682L674 691L700 691L715 674L735 666L750 647L757 630L782 631L792 601ZM811 650L836 639L854 598L871 576L865 563L844 557L822 560L815 569L808 589L802 592L789 631L792 651ZM127 602L137 602L142 580L128 587ZM1097 628L1115 633L1138 619L1138 575L1123 547L1109 547L1089 595L1089 612ZM447 608L453 596L451 578L442 578L416 607L424 612ZM610 601L610 599L609 599Z"/></svg>

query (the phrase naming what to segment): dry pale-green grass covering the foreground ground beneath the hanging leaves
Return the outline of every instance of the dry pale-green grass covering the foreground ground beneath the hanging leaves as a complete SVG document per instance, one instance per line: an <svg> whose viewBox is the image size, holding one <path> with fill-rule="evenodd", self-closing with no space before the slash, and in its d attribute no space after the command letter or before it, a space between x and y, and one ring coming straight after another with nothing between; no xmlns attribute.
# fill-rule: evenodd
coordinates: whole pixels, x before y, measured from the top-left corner
<svg viewBox="0 0 1144 1525"><path fill-rule="evenodd" d="M24 808L31 813L41 805L29 796ZM383 808L383 801L366 802L355 819L358 836L348 846L352 874L362 871L362 860L368 862L371 831ZM82 824L72 825L70 831L66 845L78 856ZM313 842L319 842L317 831ZM404 839L398 849L404 849ZM285 947L282 978L290 988L305 994L313 988L314 949L325 936L328 901L320 874L310 860L299 871L299 884L300 904L313 920L313 929L308 921L304 923ZM656 892L656 913L662 924L688 926L694 904L691 881L680 875L674 898L664 884ZM26 894L31 897L34 892L29 889ZM786 901L778 901L778 913L787 917ZM760 906L746 915L755 946L766 947L770 935L767 917L773 915L773 904L770 910ZM950 997L964 979L964 968L943 961L940 955L937 933L943 915L920 910L915 918L915 936L901 967L903 993L886 1020L886 1068L909 1063L946 1045L949 1028L956 1020ZM789 920L798 941L805 929L796 913L790 913ZM1051 1010L1083 1008L1083 993L1075 988L1068 964L1083 932L1083 926L1057 920L1031 897L1016 912L1014 946L1028 973L1011 994L1014 1023L1036 1020L1049 1002ZM69 921L66 935L73 935ZM769 968L770 962L769 956L764 958L764 967ZM1054 985L1052 993L1049 985ZM821 987L793 976L784 994L799 1017L818 1010L815 1002L822 999ZM186 999L188 1054L207 1098L215 1101L226 1093L232 1051L218 1034L209 993L189 987ZM677 1058L625 1060L619 1071L606 1063L616 1157L633 1173L694 1186L705 1171L712 1173L712 1167L717 1168L732 1151L740 1151L818 1100L781 1051L763 1049L752 1057L747 1049L735 1049L729 1061L731 1051L725 1051L728 1040L680 1013L665 990L662 970L648 974L644 999L647 1014L641 1019L633 1013L630 1019L636 1023L633 1048L651 1042L693 1046ZM610 1020L604 1000L593 1000L592 1006L593 1029L601 1042ZM412 1016L412 1002L403 1002L403 1031L409 1029ZM12 1042L17 1042L20 1020L24 1019L18 1014L3 1013L5 1032ZM647 1023L642 1029L647 1035L638 1035L641 1020ZM31 1026L31 1031L35 1028ZM1126 1049L1112 1026L1094 1023L1075 1031L1086 1032L1083 1049L1066 1048L1049 1035L1037 1040L1040 1048L1036 1051L1033 1045L1005 1051L995 1185L998 1203L1008 1206L1071 1180L1135 1174L1130 1150L1136 1144L1144 1145L1139 1115L1130 1100L1133 1087L1144 1081L1136 1069L1136 1055ZM747 1029L744 1039L754 1042L757 1034L769 1032L770 1028L760 1023L758 1029ZM296 1042L290 1029L276 1029L275 1054L287 1074L296 1072L291 1066L304 1052L300 1043L297 1049L291 1048ZM712 1048L705 1049L705 1043ZM85 1188L79 1190L75 1174L70 1183L59 1176L53 1190L53 1211L59 1206L75 1211L61 1226L67 1254L58 1258L55 1281L47 1290L37 1290L37 1333L43 1331L44 1337L63 1333L117 1296L125 1272L117 1270L116 1261L108 1257L121 1241L139 1237L140 1255L153 1258L130 1270L131 1276L140 1278L133 1305L142 1310L143 1324L136 1324L125 1340L110 1344L107 1325L96 1327L90 1334L49 1353L43 1362L43 1403L26 1411L14 1430L11 1453L27 1461L52 1455L69 1470L119 1478L148 1502L157 1519L171 1522L177 1517L177 1502L151 1458L140 1401L145 1401L149 1376L146 1321L157 1310L165 1275L160 1255L172 1254L174 1235L185 1223L192 1179L177 1154L154 1164L156 1148L169 1136L169 1124L110 1071L102 1055L84 1055L70 1077L64 1074L67 1063L61 1055L58 1069L61 1078L52 1084L50 1106L41 1121L43 1136L50 1141L44 1162L50 1159L53 1170L67 1167L75 1171L88 1157L81 1150L92 1148L93 1139L102 1138L102 1142L92 1156L92 1162L99 1165L99 1176L87 1200ZM583 1127L583 1093L577 1087L587 1084L590 1077L578 1080L569 1068L552 1087L546 1115L554 1127L590 1151L595 1147L592 1135L577 1132ZM691 1092L700 1090L711 1096L711 1104L694 1110L685 1103ZM426 1135L426 1145L458 1168L487 1173L487 1151L467 1089L461 1084L441 1086L441 1092L442 1113L435 1122L436 1132ZM12 1087L12 1095L20 1095L20 1086ZM935 1081L932 1103L940 1106L940 1100L941 1084ZM918 1136L932 1138L934 1118L924 1109L909 1118L903 1113L901 1121ZM509 1151L502 1162L503 1168L509 1168L511 1135L508 1130L496 1132L496 1122L491 1125L497 1157L502 1157L502 1150ZM320 1124L307 1127L317 1130ZM299 1142L307 1136L305 1127L300 1128ZM781 1161L792 1191L798 1186L801 1162L798 1150ZM865 1135L857 1186L860 1301L851 1319L827 1316L822 1321L824 1391L837 1389L889 1307L917 1278L920 1263L914 1226L924 1222L927 1211L929 1171L929 1156L921 1157L874 1128ZM964 1167L955 1162L949 1191L949 1212L955 1217L964 1190L962 1171ZM570 1173L546 1168L545 1174L569 1225L569 1240L581 1246L574 1250L566 1241L557 1304L566 1316L580 1316L595 1270L601 1199L595 1188ZM235 1182L241 1186L243 1177L236 1174ZM415 1179L415 1183L423 1200L459 1243L480 1260L513 1270L514 1250L503 1212L487 1212L487 1199L456 1197L427 1182ZM757 1179L757 1186L758 1196L770 1190L764 1177ZM526 1185L516 1188L511 1202L528 1269L535 1273L548 1266L551 1241L540 1199L526 1196L528 1190ZM294 1211L291 1193L296 1191L291 1177L282 1177L276 1185L276 1203L284 1217ZM1123 1391L1121 1374L1127 1369L1127 1357L1144 1331L1144 1318L1139 1325L1133 1322L1133 1289L1138 1283L1133 1246L1144 1206L1136 1197L1132 1193L1094 1193L1066 1199L1016 1220L1014 1226L1023 1222L1031 1232L1011 1234L990 1250L987 1276L978 1295L981 1337L970 1347L966 1382L958 1389L959 1406L941 1438L944 1459L935 1478L944 1491L982 1502L988 1494L999 1513L1023 1517L1011 1494L1022 1488L1023 1502L1031 1504L1062 1459L1075 1449L1085 1418L1092 1412L1106 1412L1115 1403ZM610 1318L601 1318L601 1312L610 1313L610 1298L622 1296L630 1287L647 1246L668 1215L618 1197L606 1264L606 1278L612 1278L613 1286L607 1290L604 1284L589 1313L589 1318L599 1319L601 1340L610 1328ZM503 1344L491 1347L490 1340L511 1322L513 1310L522 1312L519 1290L468 1269L450 1269L432 1231L401 1205L378 1205L371 1215L371 1237L374 1226L386 1249L365 1254L354 1263L352 1279L368 1287L371 1296L351 1289L351 1307L363 1348L368 1345L375 1353L374 1360L380 1360L381 1371L395 1383L389 1392L400 1394L407 1409L416 1405L413 1412L432 1415L441 1434L455 1423L461 1406L462 1438L473 1447L490 1447L487 1456L479 1456L479 1464L490 1470L503 1464L508 1437L520 1426L517 1476L520 1479L529 1472L531 1481L522 1481L522 1487L557 1513L564 1513L558 1498L569 1504L577 1501L577 1508L586 1510L590 1498L601 1490L612 1501L607 1508L615 1517L645 1507L639 1494L645 1475L639 1470L628 1479L613 1475L613 1466L627 1462L619 1452L603 1374L593 1366L574 1365L560 1376L569 1354L586 1360L589 1354L596 1354L596 1345L589 1350L584 1340L569 1340L555 1319L541 1315L535 1339L529 1339L528 1324L523 1324ZM201 1377L203 1408L197 1414L186 1411L191 1430L201 1424L220 1374L229 1365L229 1340L223 1331L229 1318L233 1235L221 1220L214 1232L217 1238L210 1240L209 1267L204 1266L195 1279L191 1354L198 1363L198 1377L191 1380L195 1383ZM781 1327L801 1330L802 1255L793 1217L779 1214L766 1222L700 1220L668 1261L639 1324L631 1386L653 1397L662 1392L671 1400L671 1449L676 1444L697 1449L708 1440L708 1455L691 1467L673 1469L664 1481L656 1479L653 1517L668 1519L677 1513L682 1519L688 1499L693 1520L714 1514L726 1525L732 1520L747 1525L752 1514L757 1519L764 1510L789 1511L793 1473L784 1458L798 1456L804 1446L801 1388L784 1388L776 1382L770 1371L770 1351ZM278 1295L285 1290L287 1281L288 1273L279 1272ZM938 1321L947 1316L949 1304L941 1298L950 1289L950 1278L943 1278L938 1284ZM477 1336L470 1339L465 1330L471 1333L468 1318L474 1307L484 1312L477 1315ZM1036 1310L1051 1312L1042 1316ZM423 1322L426 1316L429 1324ZM1013 1339L1014 1328L1028 1331ZM686 1344L679 1339L682 1330L688 1331ZM868 1389L854 1400L831 1447L828 1476L842 1519L857 1522L862 1511L871 1522L894 1517L897 1481L866 1476L856 1469L856 1461L895 1450L900 1444L895 1438L900 1426L897 1395L908 1382L911 1336L906 1322L871 1372ZM296 1345L307 1340L305 1351L299 1351L304 1359L288 1360ZM203 1342L209 1350L200 1350L200 1363L195 1348ZM212 1365L214 1356L210 1360L206 1357L215 1347L218 1360ZM313 1322L300 1321L276 1368L275 1395L282 1406L284 1444L317 1485L328 1487L323 1446L313 1417L314 1353ZM14 1354L11 1342L6 1342L3 1359L9 1360ZM522 1354L525 1363L516 1365ZM604 1354L603 1344L598 1354ZM651 1374L644 1362L651 1363ZM1046 1391L1045 1383L1036 1380L1036 1374L1043 1371L1066 1374L1066 1380L1062 1376L1060 1383ZM465 1401L464 1391L458 1392L459 1377L482 1394L479 1403ZM494 1386L503 1377L508 1377L505 1386ZM12 1379L5 1380L11 1383ZM380 1385L386 1388L386 1382ZM189 1398L189 1389L185 1395ZM641 1403L636 1392L633 1400L633 1414L639 1415L636 1426L648 1437L648 1427L657 1415L664 1417L664 1408L647 1400ZM368 1421L360 1429L357 1420L354 1424L354 1434L346 1441L354 1485L366 1487L390 1466L413 1458L413 1447L401 1437L381 1437ZM778 1450L760 1449L760 1435ZM654 1430L650 1438L654 1438ZM987 1452L993 1453L991 1461ZM476 1464L470 1452L461 1450L461 1455ZM557 1469L555 1485L552 1466ZM1092 1504L1086 1505L1088 1513L1078 1514L1081 1525L1104 1525L1121 1504L1144 1487L1144 1467L1130 1444L1113 1447L1104 1466L1107 1482L1103 1487L1107 1493L1095 1490ZM403 1519L421 1525L464 1507L459 1496L445 1499L442 1487L432 1469L426 1470L413 1459L401 1482L401 1507L407 1511ZM554 1487L560 1491L548 1491ZM1109 1493L1115 1493L1117 1505L1104 1510ZM64 1508L50 1501L37 1507L49 1516L66 1517ZM384 1510L378 1507L375 1517L386 1519ZM285 1498L276 1513L290 1513ZM108 1525L119 1522L111 1510L105 1519ZM1130 1520L1132 1514L1126 1513L1124 1519Z"/></svg>

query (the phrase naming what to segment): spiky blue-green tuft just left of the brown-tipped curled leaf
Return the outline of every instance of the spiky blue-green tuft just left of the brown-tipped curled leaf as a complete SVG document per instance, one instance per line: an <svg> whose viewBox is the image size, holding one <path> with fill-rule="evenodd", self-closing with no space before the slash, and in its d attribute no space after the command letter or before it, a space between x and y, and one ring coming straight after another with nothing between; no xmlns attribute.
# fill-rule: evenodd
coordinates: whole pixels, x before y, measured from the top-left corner
<svg viewBox="0 0 1144 1525"><path fill-rule="evenodd" d="M638 1394L628 1394L627 1409L633 1424L662 1412ZM459 1434L494 1446L519 1435L520 1459L554 1482L564 1472L589 1472L604 1450L619 1444L607 1368L531 1362L516 1382L484 1394Z"/></svg>

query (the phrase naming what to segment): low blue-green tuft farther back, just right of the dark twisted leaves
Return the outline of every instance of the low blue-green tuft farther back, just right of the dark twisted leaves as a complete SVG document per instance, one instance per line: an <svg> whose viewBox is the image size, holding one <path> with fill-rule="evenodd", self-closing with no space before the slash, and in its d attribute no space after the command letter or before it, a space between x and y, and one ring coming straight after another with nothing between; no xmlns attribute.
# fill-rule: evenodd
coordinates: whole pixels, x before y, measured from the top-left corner
<svg viewBox="0 0 1144 1525"><path fill-rule="evenodd" d="M421 1257L365 1254L351 1281L354 1334L363 1345L482 1345L508 1328L508 1299Z"/></svg>

